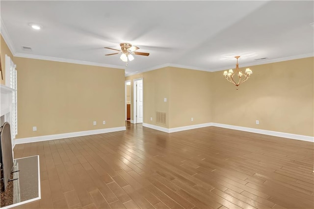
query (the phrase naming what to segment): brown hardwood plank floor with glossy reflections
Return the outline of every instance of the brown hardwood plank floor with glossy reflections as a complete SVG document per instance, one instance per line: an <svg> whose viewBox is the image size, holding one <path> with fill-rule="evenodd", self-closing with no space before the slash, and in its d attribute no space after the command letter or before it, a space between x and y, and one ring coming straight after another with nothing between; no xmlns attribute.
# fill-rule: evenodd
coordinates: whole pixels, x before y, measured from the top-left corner
<svg viewBox="0 0 314 209"><path fill-rule="evenodd" d="M314 143L208 127L16 145L40 156L42 199L17 208L313 209Z"/></svg>

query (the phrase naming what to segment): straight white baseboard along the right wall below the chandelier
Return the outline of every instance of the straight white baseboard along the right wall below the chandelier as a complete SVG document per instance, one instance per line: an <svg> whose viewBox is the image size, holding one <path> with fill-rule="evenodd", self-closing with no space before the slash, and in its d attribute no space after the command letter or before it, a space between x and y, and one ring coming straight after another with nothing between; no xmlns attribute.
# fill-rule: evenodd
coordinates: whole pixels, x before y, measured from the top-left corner
<svg viewBox="0 0 314 209"><path fill-rule="evenodd" d="M265 135L271 135L271 136L278 136L278 137L284 137L284 138L289 138L289 139L297 139L297 140L302 140L302 141L314 142L313 136L305 136L305 135L298 135L298 134L284 133L284 132L277 132L277 131L267 131L267 130L262 130L262 129L253 129L253 128L247 128L247 127L241 127L241 126L232 126L232 125L220 124L220 123L212 123L212 126L226 128L226 129L234 129L234 130L238 130L238 131L261 133L261 134L265 134Z"/></svg>

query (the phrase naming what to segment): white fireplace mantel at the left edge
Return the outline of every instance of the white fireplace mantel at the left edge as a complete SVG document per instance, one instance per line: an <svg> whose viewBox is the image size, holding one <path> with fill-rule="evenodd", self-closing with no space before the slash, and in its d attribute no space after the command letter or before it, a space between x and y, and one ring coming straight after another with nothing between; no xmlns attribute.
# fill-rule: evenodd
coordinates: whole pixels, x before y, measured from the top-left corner
<svg viewBox="0 0 314 209"><path fill-rule="evenodd" d="M12 92L15 89L0 84L0 116L6 115L12 108Z"/></svg>

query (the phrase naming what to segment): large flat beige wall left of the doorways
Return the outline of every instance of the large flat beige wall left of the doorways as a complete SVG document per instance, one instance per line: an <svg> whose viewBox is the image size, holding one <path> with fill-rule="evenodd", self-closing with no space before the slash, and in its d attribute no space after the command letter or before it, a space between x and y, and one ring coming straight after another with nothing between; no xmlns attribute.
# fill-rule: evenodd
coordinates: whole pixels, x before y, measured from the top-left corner
<svg viewBox="0 0 314 209"><path fill-rule="evenodd" d="M125 126L124 70L20 57L15 64L17 138Z"/></svg>

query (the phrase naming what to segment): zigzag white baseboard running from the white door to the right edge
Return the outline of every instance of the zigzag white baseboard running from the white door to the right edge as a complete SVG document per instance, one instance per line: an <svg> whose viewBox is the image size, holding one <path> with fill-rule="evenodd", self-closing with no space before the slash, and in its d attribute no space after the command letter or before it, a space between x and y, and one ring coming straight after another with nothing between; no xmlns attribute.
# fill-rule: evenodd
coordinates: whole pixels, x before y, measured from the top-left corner
<svg viewBox="0 0 314 209"><path fill-rule="evenodd" d="M302 141L314 142L313 136L305 136L305 135L284 133L284 132L278 132L278 131L267 131L267 130L262 130L262 129L253 129L253 128L232 126L232 125L219 124L219 123L204 123L204 124L197 124L197 125L192 125L192 126L183 126L183 127L178 127L178 128L172 128L172 129L167 129L167 128L163 128L160 126L155 126L155 125L151 125L151 124L147 124L147 123L143 123L143 126L147 127L147 128L155 129L158 131L163 131L166 133L172 133L172 132L177 132L177 131L186 131L186 130L190 130L190 129L198 129L198 128L204 128L204 127L209 127L209 126L215 126L215 127L225 128L225 129L233 129L233 130L238 130L238 131L261 133L261 134L265 134L265 135L271 135L271 136L278 136L278 137L284 137L284 138L289 138L289 139L297 139L297 140L302 140Z"/></svg>

